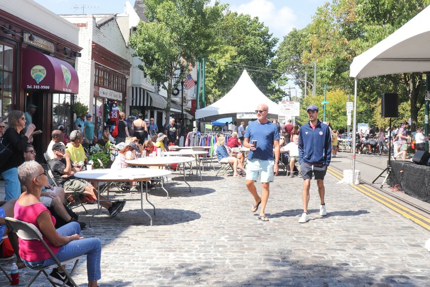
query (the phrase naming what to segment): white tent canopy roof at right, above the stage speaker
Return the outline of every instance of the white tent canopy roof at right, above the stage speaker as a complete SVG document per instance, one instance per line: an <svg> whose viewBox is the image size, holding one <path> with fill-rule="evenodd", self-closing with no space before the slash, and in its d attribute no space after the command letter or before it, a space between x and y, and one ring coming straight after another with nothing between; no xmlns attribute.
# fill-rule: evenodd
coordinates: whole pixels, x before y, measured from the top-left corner
<svg viewBox="0 0 430 287"><path fill-rule="evenodd" d="M350 76L430 71L430 6L390 36L354 58Z"/></svg>

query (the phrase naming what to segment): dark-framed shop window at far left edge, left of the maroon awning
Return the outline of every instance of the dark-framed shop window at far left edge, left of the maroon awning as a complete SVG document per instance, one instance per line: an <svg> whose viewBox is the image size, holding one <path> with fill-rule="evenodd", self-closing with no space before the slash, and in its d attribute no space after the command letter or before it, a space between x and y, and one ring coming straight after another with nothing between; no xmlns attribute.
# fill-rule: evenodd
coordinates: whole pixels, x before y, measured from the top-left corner
<svg viewBox="0 0 430 287"><path fill-rule="evenodd" d="M0 43L0 117L12 110L14 48Z"/></svg>

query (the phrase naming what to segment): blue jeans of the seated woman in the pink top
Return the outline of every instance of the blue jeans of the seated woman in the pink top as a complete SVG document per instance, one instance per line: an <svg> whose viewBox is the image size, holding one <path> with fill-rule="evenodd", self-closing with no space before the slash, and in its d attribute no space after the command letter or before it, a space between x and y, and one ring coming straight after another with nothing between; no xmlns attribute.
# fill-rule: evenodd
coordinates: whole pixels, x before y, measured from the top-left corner
<svg viewBox="0 0 430 287"><path fill-rule="evenodd" d="M58 234L70 236L80 233L79 223L70 222L57 229ZM102 257L102 243L99 238L91 237L80 240L73 240L63 245L60 251L55 255L60 262L76 258L80 255L87 254L87 274L88 281L97 281L101 278L100 260ZM42 261L25 261L26 265L32 267L46 267L56 264L55 260L50 257Z"/></svg>

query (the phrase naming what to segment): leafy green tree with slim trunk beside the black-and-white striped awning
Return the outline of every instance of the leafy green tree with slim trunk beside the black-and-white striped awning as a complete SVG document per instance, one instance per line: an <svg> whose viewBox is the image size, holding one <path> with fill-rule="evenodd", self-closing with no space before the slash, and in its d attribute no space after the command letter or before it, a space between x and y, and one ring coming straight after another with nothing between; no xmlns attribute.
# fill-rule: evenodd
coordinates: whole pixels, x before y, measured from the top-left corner
<svg viewBox="0 0 430 287"><path fill-rule="evenodd" d="M170 115L171 92L189 72L195 59L207 58L216 41L216 25L224 5L209 0L144 0L148 22L140 21L130 47L145 64L139 68L167 91L165 122ZM178 71L181 71L178 73Z"/></svg>

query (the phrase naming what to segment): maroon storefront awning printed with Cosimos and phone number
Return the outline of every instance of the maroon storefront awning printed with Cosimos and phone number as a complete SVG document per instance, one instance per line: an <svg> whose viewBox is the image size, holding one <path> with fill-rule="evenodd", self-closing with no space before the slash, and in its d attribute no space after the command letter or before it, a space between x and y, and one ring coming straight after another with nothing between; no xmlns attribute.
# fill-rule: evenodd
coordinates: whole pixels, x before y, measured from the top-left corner
<svg viewBox="0 0 430 287"><path fill-rule="evenodd" d="M69 63L32 49L22 49L22 87L78 94L79 79Z"/></svg>

